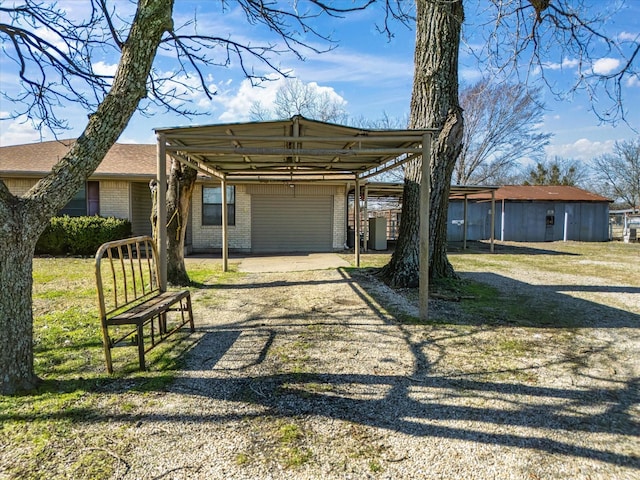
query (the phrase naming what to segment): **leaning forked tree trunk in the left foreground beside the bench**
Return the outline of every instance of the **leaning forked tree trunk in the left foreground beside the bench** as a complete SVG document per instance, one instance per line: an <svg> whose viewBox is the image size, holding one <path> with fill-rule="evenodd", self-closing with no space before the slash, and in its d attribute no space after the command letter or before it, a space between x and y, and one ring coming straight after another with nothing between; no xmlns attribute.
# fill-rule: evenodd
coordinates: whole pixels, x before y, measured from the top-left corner
<svg viewBox="0 0 640 480"><path fill-rule="evenodd" d="M33 369L32 262L48 221L95 171L140 100L173 0L140 0L111 90L69 153L18 199L0 181L0 393L37 384Z"/></svg>

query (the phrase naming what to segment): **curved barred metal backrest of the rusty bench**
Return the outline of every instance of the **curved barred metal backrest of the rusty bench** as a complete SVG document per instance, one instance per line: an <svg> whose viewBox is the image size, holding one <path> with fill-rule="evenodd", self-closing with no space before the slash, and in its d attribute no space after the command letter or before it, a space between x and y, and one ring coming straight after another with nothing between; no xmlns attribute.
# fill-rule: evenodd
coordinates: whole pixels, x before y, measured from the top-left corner
<svg viewBox="0 0 640 480"><path fill-rule="evenodd" d="M161 293L158 251L149 236L107 242L96 252L100 319Z"/></svg>

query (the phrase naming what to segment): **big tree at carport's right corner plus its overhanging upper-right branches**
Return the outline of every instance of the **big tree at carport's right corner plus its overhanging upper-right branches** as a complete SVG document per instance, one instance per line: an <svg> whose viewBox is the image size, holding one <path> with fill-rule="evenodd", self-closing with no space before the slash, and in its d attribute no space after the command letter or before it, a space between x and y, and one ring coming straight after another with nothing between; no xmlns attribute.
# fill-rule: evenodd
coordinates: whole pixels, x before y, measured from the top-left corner
<svg viewBox="0 0 640 480"><path fill-rule="evenodd" d="M640 41L609 37L605 20L608 3L589 5L574 0L491 0L478 12L475 26L484 33L482 48L473 51L483 68L501 78L515 76L523 83L543 82L560 97L584 90L591 95L599 118L625 120L623 85L638 78ZM429 272L431 277L455 276L447 259L446 218L449 188L462 150L462 115L458 103L458 51L469 0L416 0L416 49L410 127L442 129L433 144L429 214ZM598 48L596 48L598 47ZM595 68L601 55L615 55L616 67ZM596 55L599 55L596 57ZM553 62L558 59L560 63ZM570 59L576 81L564 91L555 89L548 73ZM604 95L596 95L603 92ZM605 98L608 103L599 103ZM381 274L393 285L417 285L419 276L420 160L405 170L402 225L396 250Z"/></svg>

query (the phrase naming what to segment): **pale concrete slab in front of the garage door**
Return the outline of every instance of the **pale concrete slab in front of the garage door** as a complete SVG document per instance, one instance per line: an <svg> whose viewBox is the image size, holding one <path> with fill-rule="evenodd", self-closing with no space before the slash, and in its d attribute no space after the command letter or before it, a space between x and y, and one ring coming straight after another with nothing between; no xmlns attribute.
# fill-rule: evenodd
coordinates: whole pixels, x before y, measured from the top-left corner
<svg viewBox="0 0 640 480"><path fill-rule="evenodd" d="M238 258L235 257L232 261L237 260ZM239 260L238 270L249 273L300 272L350 266L349 262L335 253L250 256Z"/></svg>

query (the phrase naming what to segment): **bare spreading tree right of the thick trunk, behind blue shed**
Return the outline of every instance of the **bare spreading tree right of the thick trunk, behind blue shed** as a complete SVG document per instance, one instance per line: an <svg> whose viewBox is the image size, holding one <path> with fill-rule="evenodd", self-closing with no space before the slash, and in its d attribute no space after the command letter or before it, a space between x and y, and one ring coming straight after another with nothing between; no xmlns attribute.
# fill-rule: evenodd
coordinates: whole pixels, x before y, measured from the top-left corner
<svg viewBox="0 0 640 480"><path fill-rule="evenodd" d="M519 160L544 157L551 134L538 131L544 106L540 89L482 80L460 93L464 110L457 185L497 185Z"/></svg>

